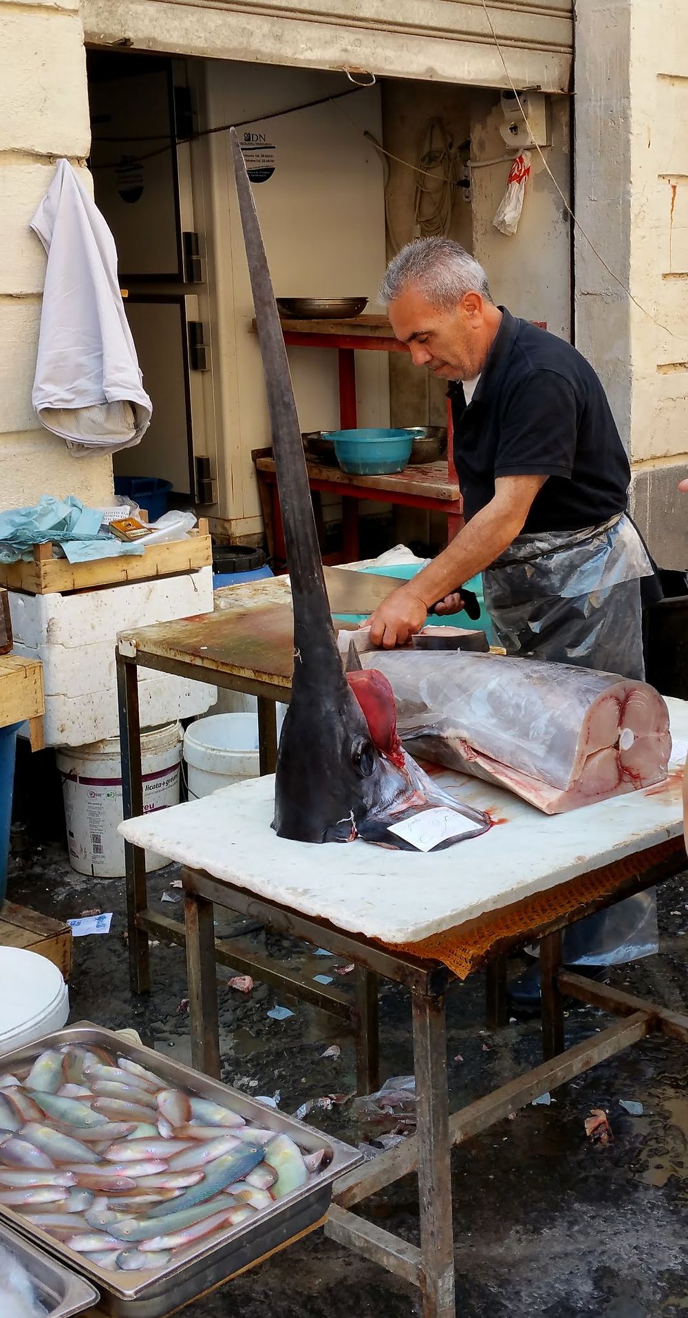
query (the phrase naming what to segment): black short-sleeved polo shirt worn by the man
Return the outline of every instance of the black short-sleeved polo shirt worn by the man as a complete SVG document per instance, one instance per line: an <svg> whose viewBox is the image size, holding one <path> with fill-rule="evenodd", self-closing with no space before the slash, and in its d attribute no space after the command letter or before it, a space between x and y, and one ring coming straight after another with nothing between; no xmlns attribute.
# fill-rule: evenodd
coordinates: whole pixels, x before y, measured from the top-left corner
<svg viewBox="0 0 688 1318"><path fill-rule="evenodd" d="M630 468L593 368L503 307L471 403L449 385L453 459L469 521L498 476L547 476L523 531L577 531L626 509Z"/></svg>

